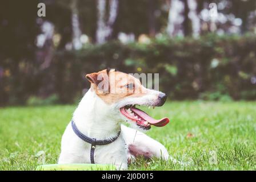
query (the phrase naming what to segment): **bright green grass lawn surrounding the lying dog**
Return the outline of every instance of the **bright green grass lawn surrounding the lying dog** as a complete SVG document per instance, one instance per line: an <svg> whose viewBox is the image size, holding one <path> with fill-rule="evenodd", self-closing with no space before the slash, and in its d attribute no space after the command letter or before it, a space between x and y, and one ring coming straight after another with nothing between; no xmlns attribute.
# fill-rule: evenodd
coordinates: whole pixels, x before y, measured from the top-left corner
<svg viewBox="0 0 256 182"><path fill-rule="evenodd" d="M34 170L57 162L61 136L74 105L0 109L0 170ZM167 102L155 118L169 125L147 135L180 163L138 159L130 170L255 170L255 102Z"/></svg>

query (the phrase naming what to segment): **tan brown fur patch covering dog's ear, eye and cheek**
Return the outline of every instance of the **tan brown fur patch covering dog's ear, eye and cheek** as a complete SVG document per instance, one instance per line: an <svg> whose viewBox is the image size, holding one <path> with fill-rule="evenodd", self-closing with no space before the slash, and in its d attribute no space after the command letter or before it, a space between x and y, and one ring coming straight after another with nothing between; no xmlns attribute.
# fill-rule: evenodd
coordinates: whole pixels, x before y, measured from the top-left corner
<svg viewBox="0 0 256 182"><path fill-rule="evenodd" d="M147 92L137 78L114 69L87 74L86 78L94 92L107 104L114 104L125 97L140 97Z"/></svg>

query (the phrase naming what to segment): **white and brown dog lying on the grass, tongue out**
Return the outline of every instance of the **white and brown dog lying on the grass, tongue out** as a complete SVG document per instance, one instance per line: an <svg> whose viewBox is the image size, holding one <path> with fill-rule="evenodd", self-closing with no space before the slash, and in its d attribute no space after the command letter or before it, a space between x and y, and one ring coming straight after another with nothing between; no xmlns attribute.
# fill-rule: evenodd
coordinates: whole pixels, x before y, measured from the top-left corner
<svg viewBox="0 0 256 182"><path fill-rule="evenodd" d="M87 74L86 78L91 86L62 136L59 164L114 164L117 169L127 169L138 156L169 159L166 148L142 132L152 125L165 126L169 119L156 120L136 107L162 106L166 94L147 89L139 79L115 69ZM97 140L109 143L93 144Z"/></svg>

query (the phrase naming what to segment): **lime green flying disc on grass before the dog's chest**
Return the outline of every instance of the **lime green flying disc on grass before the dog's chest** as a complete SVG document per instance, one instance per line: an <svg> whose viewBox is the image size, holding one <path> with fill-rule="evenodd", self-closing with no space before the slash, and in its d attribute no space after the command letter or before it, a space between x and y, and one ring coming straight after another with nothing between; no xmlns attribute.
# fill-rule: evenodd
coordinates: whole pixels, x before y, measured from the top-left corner
<svg viewBox="0 0 256 182"><path fill-rule="evenodd" d="M114 171L113 164L46 164L37 166L38 171Z"/></svg>

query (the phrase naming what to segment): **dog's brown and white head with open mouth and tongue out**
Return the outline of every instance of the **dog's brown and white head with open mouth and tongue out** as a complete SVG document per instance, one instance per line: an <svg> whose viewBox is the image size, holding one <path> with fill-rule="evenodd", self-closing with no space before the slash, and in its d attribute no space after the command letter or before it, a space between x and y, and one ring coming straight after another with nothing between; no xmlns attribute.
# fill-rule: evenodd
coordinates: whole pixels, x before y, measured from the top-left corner
<svg viewBox="0 0 256 182"><path fill-rule="evenodd" d="M168 118L154 119L136 105L162 106L166 94L145 88L138 78L114 69L104 69L86 75L91 82L91 90L111 109L111 113L122 121L135 123L139 128L149 130L151 125L165 126Z"/></svg>

